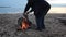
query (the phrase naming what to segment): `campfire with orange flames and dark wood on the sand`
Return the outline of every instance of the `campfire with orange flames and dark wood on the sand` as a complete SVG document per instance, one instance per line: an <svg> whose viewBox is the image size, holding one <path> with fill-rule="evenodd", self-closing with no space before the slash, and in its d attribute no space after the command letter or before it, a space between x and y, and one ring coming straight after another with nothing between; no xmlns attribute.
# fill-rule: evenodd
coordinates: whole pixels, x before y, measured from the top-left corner
<svg viewBox="0 0 66 37"><path fill-rule="evenodd" d="M23 17L20 17L18 22L20 23L19 29L21 29L21 30L26 30L30 27L29 22Z"/></svg>

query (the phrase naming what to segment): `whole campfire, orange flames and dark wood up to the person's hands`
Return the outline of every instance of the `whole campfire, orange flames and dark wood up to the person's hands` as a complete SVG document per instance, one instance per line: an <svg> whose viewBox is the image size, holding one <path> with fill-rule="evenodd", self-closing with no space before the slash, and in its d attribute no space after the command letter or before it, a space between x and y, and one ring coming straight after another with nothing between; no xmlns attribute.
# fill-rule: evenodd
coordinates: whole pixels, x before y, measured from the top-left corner
<svg viewBox="0 0 66 37"><path fill-rule="evenodd" d="M26 30L29 27L30 27L30 24L32 24L29 18L28 18L28 15L23 15L22 17L20 17L18 20L18 24L20 24L20 29L22 30Z"/></svg>

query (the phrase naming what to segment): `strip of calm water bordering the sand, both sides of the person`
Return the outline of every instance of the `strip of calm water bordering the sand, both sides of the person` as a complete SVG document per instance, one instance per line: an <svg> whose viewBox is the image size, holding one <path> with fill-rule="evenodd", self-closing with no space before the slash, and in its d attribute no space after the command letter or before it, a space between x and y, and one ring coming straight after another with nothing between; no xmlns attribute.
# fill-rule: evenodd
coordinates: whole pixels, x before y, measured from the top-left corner
<svg viewBox="0 0 66 37"><path fill-rule="evenodd" d="M13 11L14 11L14 9L13 9ZM15 12L11 12L11 11L6 12L6 11L3 11L3 12L0 12L0 14L18 14L18 13L23 13L23 11L15 11ZM48 11L48 13L66 14L66 7L51 7L51 10Z"/></svg>

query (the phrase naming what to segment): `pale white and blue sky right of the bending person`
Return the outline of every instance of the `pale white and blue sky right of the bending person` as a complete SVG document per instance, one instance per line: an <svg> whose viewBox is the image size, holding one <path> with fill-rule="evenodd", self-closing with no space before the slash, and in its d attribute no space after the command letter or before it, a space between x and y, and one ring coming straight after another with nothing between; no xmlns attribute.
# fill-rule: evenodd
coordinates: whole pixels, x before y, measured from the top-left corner
<svg viewBox="0 0 66 37"><path fill-rule="evenodd" d="M66 7L66 0L46 0L52 7Z"/></svg>

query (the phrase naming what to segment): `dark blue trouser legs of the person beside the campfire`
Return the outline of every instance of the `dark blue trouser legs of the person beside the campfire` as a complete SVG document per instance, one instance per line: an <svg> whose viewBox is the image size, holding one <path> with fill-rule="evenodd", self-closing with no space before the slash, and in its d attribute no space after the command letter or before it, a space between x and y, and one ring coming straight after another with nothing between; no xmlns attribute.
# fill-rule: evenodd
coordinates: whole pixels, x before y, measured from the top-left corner
<svg viewBox="0 0 66 37"><path fill-rule="evenodd" d="M37 29L44 29L45 25L44 25L44 16L36 16L36 25L37 25Z"/></svg>

